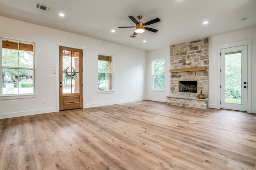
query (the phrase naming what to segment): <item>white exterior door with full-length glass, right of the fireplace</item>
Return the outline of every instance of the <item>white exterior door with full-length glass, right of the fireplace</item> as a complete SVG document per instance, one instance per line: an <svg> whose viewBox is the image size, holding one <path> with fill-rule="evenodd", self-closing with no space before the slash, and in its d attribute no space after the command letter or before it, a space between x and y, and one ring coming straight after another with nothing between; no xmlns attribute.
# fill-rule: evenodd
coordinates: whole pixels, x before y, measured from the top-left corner
<svg viewBox="0 0 256 170"><path fill-rule="evenodd" d="M247 45L221 49L220 108L247 111Z"/></svg>

